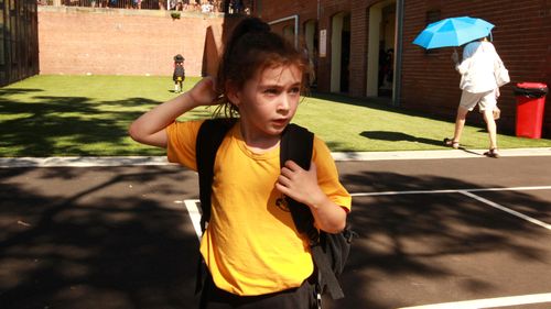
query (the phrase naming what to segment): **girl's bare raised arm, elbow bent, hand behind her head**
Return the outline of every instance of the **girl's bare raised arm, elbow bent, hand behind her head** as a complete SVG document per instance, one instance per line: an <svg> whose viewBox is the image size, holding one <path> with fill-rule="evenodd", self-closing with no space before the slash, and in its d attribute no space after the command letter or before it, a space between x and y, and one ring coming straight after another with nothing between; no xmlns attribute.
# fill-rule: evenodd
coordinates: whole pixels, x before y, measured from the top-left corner
<svg viewBox="0 0 551 309"><path fill-rule="evenodd" d="M151 146L166 147L166 126L181 114L199 106L213 104L216 99L214 79L203 78L190 91L175 97L134 120L128 129L132 140Z"/></svg>

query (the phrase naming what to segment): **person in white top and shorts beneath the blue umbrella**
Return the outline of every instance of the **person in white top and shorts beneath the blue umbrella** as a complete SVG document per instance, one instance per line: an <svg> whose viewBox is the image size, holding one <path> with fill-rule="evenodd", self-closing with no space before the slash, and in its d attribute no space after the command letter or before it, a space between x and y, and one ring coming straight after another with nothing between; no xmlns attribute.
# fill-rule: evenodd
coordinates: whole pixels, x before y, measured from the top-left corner
<svg viewBox="0 0 551 309"><path fill-rule="evenodd" d="M499 114L497 108L499 87L495 78L495 64L501 62L501 59L487 37L482 37L468 43L463 48L463 60L461 63L456 51L452 54L452 60L455 63L455 69L461 74L460 88L462 95L455 118L454 135L452 139L444 139L444 144L453 148L460 147L466 115L478 106L484 115L489 136L489 150L484 155L497 158L499 153L497 151L495 119Z"/></svg>

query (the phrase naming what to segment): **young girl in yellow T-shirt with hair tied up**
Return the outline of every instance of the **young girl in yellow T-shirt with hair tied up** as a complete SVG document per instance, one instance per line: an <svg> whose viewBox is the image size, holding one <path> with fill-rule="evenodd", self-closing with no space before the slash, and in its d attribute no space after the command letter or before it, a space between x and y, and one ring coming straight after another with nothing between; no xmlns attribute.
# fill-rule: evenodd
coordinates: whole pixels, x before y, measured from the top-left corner
<svg viewBox="0 0 551 309"><path fill-rule="evenodd" d="M238 117L214 166L210 221L201 242L209 272L201 308L315 307L307 238L277 200L285 195L306 205L318 229L336 233L345 228L352 199L317 137L310 170L292 161L280 168L281 133L296 111L306 66L302 53L268 24L246 19L226 45L216 82L204 78L130 126L132 139L165 147L169 161L196 170L203 121L175 119L220 103L227 117Z"/></svg>

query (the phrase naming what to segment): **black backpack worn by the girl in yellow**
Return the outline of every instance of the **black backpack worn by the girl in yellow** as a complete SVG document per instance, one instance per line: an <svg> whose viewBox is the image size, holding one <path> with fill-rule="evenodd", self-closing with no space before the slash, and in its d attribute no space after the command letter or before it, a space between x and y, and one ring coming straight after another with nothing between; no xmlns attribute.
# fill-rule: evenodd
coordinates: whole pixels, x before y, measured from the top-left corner
<svg viewBox="0 0 551 309"><path fill-rule="evenodd" d="M236 123L233 119L206 120L199 129L196 140L196 161L199 175L199 200L202 206L201 229L204 232L210 219L210 194L216 152L226 133ZM296 124L289 124L281 135L280 164L292 159L304 169L310 169L314 134ZM347 225L338 234L318 231L313 222L312 212L304 205L285 197L294 224L299 232L309 236L314 264L317 268L317 285L321 293L327 291L333 299L344 297L337 277L344 269L355 233ZM205 269L199 256L197 288L202 288L202 274Z"/></svg>

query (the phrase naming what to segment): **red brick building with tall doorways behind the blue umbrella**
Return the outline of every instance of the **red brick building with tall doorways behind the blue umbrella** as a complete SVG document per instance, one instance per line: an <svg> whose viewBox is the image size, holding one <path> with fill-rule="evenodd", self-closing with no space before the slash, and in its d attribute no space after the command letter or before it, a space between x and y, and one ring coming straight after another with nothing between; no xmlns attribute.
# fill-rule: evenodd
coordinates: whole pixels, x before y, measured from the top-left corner
<svg viewBox="0 0 551 309"><path fill-rule="evenodd" d="M549 1L257 0L253 8L277 31L299 35L316 63L320 91L390 97L389 103L452 120L461 96L453 48L426 52L411 42L428 23L461 15L496 25L494 44L512 80L501 88L501 130L515 129L516 82L551 85ZM551 135L549 103L543 134Z"/></svg>

